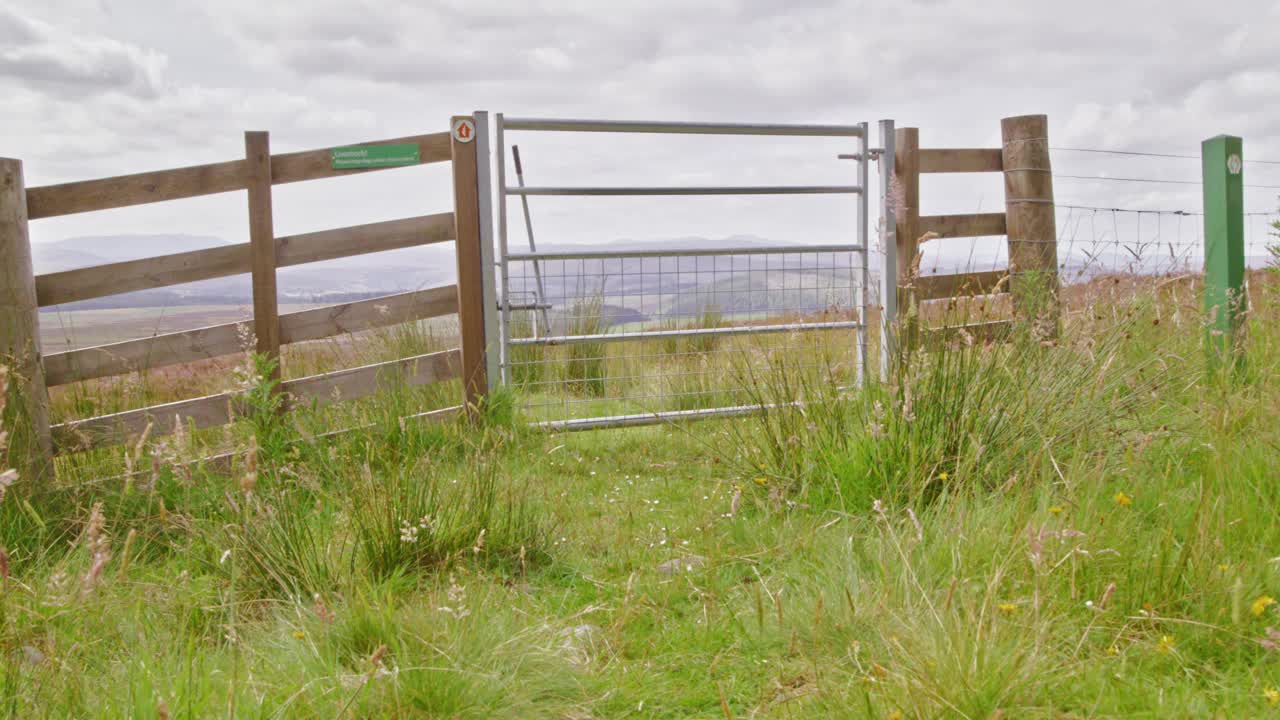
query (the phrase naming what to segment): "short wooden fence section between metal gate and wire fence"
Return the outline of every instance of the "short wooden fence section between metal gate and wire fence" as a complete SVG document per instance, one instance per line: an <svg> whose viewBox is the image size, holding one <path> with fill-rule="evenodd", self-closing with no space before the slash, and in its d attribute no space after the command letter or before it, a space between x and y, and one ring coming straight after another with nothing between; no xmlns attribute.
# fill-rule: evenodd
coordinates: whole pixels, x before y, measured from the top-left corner
<svg viewBox="0 0 1280 720"><path fill-rule="evenodd" d="M1014 313L1030 314L1050 307L1056 320L1057 232L1053 218L1053 173L1048 156L1048 118L1021 115L1000 123L998 149L920 149L916 128L899 128L895 136L893 172L899 183L896 208L897 282L902 297L899 313L915 302L963 296L1012 293ZM1001 173L1005 178L1005 211L966 215L920 215L920 176L928 173ZM916 275L913 263L922 242L947 238L1004 234L1009 238L1009 269L946 275ZM1021 283L1037 278L1037 288L1052 299L1048 305L1032 301ZM1004 334L1012 320L989 320L945 328L940 333L969 333L975 340ZM1056 332L1056 322L1051 323ZM914 332L910 331L910 332Z"/></svg>

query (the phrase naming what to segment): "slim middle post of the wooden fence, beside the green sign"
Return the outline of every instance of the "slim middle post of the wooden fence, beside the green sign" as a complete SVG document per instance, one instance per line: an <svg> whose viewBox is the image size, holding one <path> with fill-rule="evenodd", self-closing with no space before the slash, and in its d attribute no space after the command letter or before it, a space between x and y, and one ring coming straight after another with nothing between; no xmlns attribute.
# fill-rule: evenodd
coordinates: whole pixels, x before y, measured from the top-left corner
<svg viewBox="0 0 1280 720"><path fill-rule="evenodd" d="M271 143L266 132L244 133L248 165L248 241L253 273L253 334L257 352L275 361L280 379L280 309L275 288L275 224L271 218Z"/></svg>

